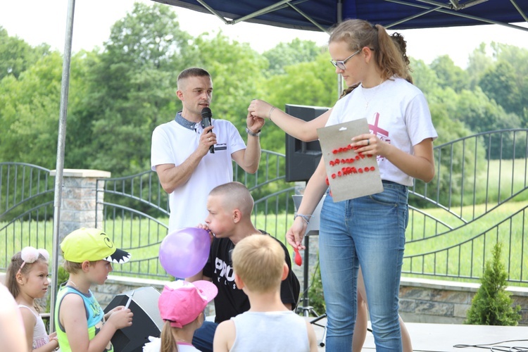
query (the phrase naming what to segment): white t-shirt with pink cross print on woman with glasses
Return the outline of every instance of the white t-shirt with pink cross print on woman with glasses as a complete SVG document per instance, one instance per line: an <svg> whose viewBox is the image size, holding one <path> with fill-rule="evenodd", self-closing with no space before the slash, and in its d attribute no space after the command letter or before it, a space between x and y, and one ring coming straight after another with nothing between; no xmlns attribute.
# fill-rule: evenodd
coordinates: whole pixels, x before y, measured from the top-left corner
<svg viewBox="0 0 528 352"><path fill-rule="evenodd" d="M370 133L409 154L424 139L438 137L424 94L402 78L393 77L370 89L360 85L337 101L327 126L360 118L367 119ZM382 180L413 185L413 177L386 158L377 156L377 163Z"/></svg>

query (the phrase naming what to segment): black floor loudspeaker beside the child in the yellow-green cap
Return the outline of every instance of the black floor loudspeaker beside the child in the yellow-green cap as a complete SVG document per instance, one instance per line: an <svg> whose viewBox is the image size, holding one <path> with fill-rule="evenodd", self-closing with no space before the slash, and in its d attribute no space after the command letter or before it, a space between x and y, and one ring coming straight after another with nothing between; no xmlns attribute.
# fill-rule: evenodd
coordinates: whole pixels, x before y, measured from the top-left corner
<svg viewBox="0 0 528 352"><path fill-rule="evenodd" d="M115 352L142 352L143 345L149 342L149 336L160 337L163 320L158 310L160 292L153 287L141 287L118 294L108 303L104 313L117 306L126 306L130 301L130 310L134 313L132 325L119 329L111 341Z"/></svg>

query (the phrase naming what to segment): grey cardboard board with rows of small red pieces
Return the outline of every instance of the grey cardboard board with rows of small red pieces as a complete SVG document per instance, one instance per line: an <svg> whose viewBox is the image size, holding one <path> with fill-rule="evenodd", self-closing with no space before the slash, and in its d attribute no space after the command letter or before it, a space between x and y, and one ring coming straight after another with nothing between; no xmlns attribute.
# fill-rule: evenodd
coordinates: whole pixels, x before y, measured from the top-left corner
<svg viewBox="0 0 528 352"><path fill-rule="evenodd" d="M322 158L334 202L383 191L376 156L350 149L352 137L369 133L366 118L318 129Z"/></svg>

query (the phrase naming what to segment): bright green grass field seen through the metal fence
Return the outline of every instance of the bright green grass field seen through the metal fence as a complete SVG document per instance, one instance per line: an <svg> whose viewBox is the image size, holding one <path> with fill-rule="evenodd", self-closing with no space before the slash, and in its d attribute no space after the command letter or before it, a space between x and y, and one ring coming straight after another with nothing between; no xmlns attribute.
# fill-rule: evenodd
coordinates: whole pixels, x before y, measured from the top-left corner
<svg viewBox="0 0 528 352"><path fill-rule="evenodd" d="M503 225L498 227L496 225L527 205L528 201L505 203L470 225L463 225L462 221L445 210L428 209L427 212L434 218L448 224L454 224L453 227L458 228L444 236L424 237L422 239L417 239L416 234L411 236L410 228L408 228L406 256L416 257L413 258L412 266L410 259L404 260L403 271L425 272L430 275L436 273L440 277L446 275L479 276L484 268L484 261L491 256L491 248L498 240L503 242L503 260L510 265L509 268L507 266L510 277L513 279L520 277L520 268L528 268L528 256L524 255L524 261L520 263L523 248L523 224L527 223L527 215L520 213ZM477 206L477 211L482 211L480 208L484 207L484 205ZM466 211L470 211L470 207L465 208L468 208ZM264 215L253 217L258 229L269 232L283 242L284 234L291 226L292 220L291 215L286 214L268 215L268 218L265 218ZM164 218L158 221L167 223L168 219ZM0 226L4 225L0 223ZM431 221L423 225L423 220L415 219L413 226L425 229L425 233L434 233L434 223ZM111 229L107 227L106 231L118 247L127 249L132 253L130 263L115 265L115 274L127 275L127 272L141 272L141 277L151 278L165 275L157 258L159 244L165 237L165 227L160 225L153 227L153 222L147 220L117 218L113 222L113 227ZM480 235L482 233L484 235ZM22 234L28 235L23 236ZM45 234L45 237L41 238L39 234ZM11 231L5 232L4 243L0 243L0 258L5 258L1 267L6 268L11 255L29 244L35 246L38 243L37 246L44 246L51 253L51 234L51 221L45 223L19 222ZM468 241L467 244L458 246L464 241ZM524 244L524 248L526 246L527 244ZM449 249L450 247L453 248ZM460 280L475 281L464 278Z"/></svg>

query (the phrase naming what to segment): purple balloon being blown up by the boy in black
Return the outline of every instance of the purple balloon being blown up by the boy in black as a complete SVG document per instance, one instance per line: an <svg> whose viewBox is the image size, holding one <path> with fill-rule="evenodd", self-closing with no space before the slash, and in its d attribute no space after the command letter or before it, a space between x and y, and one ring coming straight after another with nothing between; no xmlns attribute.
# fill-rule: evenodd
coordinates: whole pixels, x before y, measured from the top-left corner
<svg viewBox="0 0 528 352"><path fill-rule="evenodd" d="M170 275L183 279L196 275L207 263L210 237L199 227L171 232L161 241L160 263Z"/></svg>

